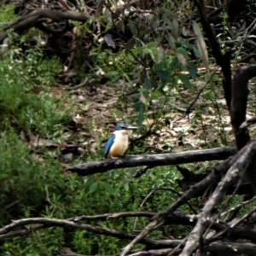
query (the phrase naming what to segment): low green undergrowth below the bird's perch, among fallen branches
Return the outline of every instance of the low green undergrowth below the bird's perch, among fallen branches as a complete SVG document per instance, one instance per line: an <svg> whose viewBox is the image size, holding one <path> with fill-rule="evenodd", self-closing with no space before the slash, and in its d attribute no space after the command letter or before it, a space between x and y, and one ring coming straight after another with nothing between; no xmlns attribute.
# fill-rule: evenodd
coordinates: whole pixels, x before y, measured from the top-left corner
<svg viewBox="0 0 256 256"><path fill-rule="evenodd" d="M5 145L5 147L3 147ZM9 166L3 166L0 182L5 183L1 191L1 216L6 223L10 218L38 216L38 212L45 217L70 218L79 215L94 215L106 212L149 211L157 212L165 209L170 202L177 198L172 191L158 190L158 188L177 189L174 179L180 177L171 167L156 168L140 179L133 179L132 172L128 170L116 170L104 174L96 174L92 177L64 177L60 172L57 161L49 158L44 165L31 158L28 148L20 143L15 133L5 134L1 141L1 156L10 159L12 152L17 148L17 154L13 161L8 161ZM3 154L5 153L5 154ZM3 162L0 158L1 163ZM10 166L12 164L12 166ZM110 183L111 181L111 183ZM91 191L90 187L97 182L97 189ZM87 185L90 183L90 185ZM106 184L112 189L108 191ZM96 185L95 185L96 186ZM8 191L6 191L8 189ZM143 207L140 207L145 196L152 189L157 189L148 198ZM113 193L114 191L114 193ZM47 196L48 192L48 196ZM172 196L171 196L172 195ZM171 196L171 197L170 197ZM172 198L172 201L170 201ZM49 203L50 201L50 203ZM15 202L14 205L7 205ZM55 211L53 211L55 209ZM15 215L15 212L20 212ZM3 214L2 214L3 213ZM8 214L8 215L7 215ZM108 222L90 222L101 225L107 229L118 229L131 232L135 218L113 219ZM136 229L141 230L148 224L148 218L139 218ZM155 231L151 237L157 238L161 231ZM171 234L170 234L171 235ZM66 241L69 236L70 239ZM38 231L37 234L23 239L15 237L4 243L3 255L52 255L55 250L61 250L61 244L66 241L77 253L102 255L118 253L120 247L124 247L124 241L113 237L95 235L84 230L63 230L52 228ZM86 246L84 242L86 241ZM15 246L11 246L11 245ZM107 253L108 252L108 253Z"/></svg>

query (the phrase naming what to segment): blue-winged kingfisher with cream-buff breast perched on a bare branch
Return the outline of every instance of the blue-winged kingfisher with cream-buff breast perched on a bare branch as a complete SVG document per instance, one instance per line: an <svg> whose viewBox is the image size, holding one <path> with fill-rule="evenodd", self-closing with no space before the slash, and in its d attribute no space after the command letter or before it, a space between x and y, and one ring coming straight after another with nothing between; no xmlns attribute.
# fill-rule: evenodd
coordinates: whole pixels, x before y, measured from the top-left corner
<svg viewBox="0 0 256 256"><path fill-rule="evenodd" d="M127 130L137 130L136 126L129 126L124 124L118 124L115 126L115 131L112 137L108 139L108 143L105 148L105 158L119 157L125 154L129 144L129 133Z"/></svg>

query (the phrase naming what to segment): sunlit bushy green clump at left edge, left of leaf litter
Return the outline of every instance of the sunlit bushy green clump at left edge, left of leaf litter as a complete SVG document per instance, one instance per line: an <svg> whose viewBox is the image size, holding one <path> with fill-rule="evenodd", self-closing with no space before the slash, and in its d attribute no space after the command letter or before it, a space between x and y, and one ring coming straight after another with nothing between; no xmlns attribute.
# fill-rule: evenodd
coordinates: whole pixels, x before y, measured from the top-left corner
<svg viewBox="0 0 256 256"><path fill-rule="evenodd" d="M2 131L15 127L38 136L60 137L60 127L71 120L73 109L65 94L57 98L49 93L50 86L56 83L55 74L60 70L59 60L43 58L38 48L19 53L15 48L9 50L0 63Z"/></svg>

